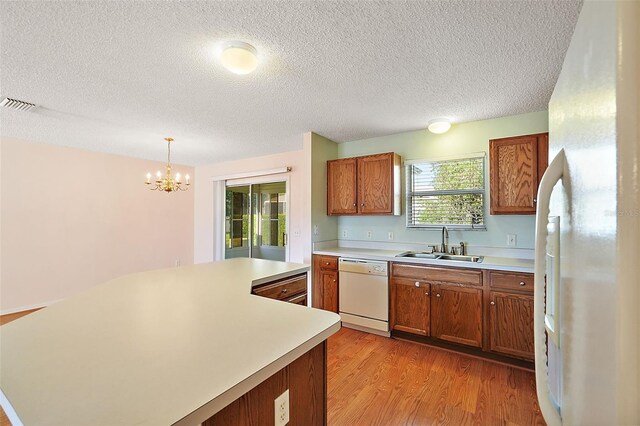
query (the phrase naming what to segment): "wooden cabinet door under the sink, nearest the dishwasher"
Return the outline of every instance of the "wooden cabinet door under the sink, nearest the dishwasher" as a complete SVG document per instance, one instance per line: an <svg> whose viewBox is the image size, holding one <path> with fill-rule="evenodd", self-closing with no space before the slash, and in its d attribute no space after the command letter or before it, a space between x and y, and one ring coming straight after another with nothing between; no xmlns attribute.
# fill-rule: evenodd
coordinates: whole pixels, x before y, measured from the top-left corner
<svg viewBox="0 0 640 426"><path fill-rule="evenodd" d="M429 283L391 278L391 329L430 334Z"/></svg>

